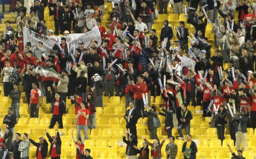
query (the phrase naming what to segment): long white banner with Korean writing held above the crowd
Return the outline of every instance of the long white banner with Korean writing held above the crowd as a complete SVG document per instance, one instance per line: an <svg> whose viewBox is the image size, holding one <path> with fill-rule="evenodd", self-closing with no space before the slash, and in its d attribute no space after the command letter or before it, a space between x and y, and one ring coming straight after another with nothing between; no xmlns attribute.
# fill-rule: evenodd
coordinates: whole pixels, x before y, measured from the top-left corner
<svg viewBox="0 0 256 159"><path fill-rule="evenodd" d="M35 47L39 41L43 42L43 48L45 49L46 55L54 56L57 53L57 50L53 50L53 46L55 45L56 41L60 41L60 38L65 37L67 39L67 43L71 42L71 46L76 48L79 47L80 42L84 42L84 47L87 48L88 43L91 39L94 39L98 42L98 46L101 44L101 36L100 31L97 25L91 29L91 31L87 33L80 33L80 34L69 34L68 36L41 36L27 28L24 27L23 29L23 36L24 36L24 48L26 48L27 42L31 42L31 50ZM69 46L69 47L71 47ZM92 45L91 45L92 46Z"/></svg>

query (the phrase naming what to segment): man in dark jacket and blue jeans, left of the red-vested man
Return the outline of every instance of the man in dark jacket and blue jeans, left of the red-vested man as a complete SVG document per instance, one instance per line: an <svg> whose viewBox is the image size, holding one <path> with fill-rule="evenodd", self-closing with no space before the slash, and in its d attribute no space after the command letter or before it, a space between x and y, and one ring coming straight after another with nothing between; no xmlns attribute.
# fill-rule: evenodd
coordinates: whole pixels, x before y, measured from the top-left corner
<svg viewBox="0 0 256 159"><path fill-rule="evenodd" d="M19 120L19 98L20 98L20 90L18 83L13 83L14 90L11 91L10 98L12 99L11 108L13 109L13 114L17 120Z"/></svg>

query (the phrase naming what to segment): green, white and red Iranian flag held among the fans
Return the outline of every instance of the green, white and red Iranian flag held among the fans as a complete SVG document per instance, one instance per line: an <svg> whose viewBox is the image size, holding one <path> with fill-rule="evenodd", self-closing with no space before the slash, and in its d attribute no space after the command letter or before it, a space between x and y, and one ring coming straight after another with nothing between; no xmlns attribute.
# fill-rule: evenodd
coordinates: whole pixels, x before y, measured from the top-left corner
<svg viewBox="0 0 256 159"><path fill-rule="evenodd" d="M50 69L45 69L42 67L37 67L35 69L35 73L38 73L40 75L42 81L54 81L58 82L59 77L58 77L58 72L56 72L53 68Z"/></svg>

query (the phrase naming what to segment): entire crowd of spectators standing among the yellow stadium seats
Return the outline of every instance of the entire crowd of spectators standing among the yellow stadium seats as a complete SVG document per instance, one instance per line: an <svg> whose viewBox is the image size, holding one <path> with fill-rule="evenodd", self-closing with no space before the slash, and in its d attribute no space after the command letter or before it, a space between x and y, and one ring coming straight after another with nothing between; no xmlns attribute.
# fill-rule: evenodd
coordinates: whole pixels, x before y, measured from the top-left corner
<svg viewBox="0 0 256 159"><path fill-rule="evenodd" d="M18 13L17 32L11 27L10 21L5 21L6 28L0 44L0 75L3 76L2 93L9 96L12 103L3 121L6 129L1 134L4 137L1 155L7 149L7 154L13 154L14 159L28 159L30 143L37 147L37 159L44 159L48 153L48 142L43 136L36 143L27 133L14 133L20 118L19 85L22 82L30 107L30 118L39 118L41 98L46 96L47 104L51 104L53 115L49 128L58 122L59 129L62 129L67 100L75 105L77 139L73 131L72 138L77 149L77 159L92 158L90 149L84 145L84 139L89 138L88 128L91 130L97 127L96 107L103 106L103 95L125 96L125 106L129 107L124 112L127 125L123 137L127 143L127 159L136 159L137 154L143 159L159 159L163 157L161 147L167 139L170 140L166 146L167 157L175 158L177 145L172 136L173 128L177 129L177 139L181 140L184 140L182 129L185 129L187 141L182 146L184 158L196 158L197 146L190 135L193 115L187 109L189 105L202 106L203 117L212 118L210 127L217 128L221 141L225 139L224 129L227 124L238 156L228 145L230 152L234 158L242 158L240 143L243 151L246 151L246 128L256 128L255 3L247 0L190 0L189 6L184 9L182 0L170 1L173 13L180 15L184 9L187 20L177 22L177 28L174 28L176 31L173 31L168 20L163 21L161 30L152 29L154 18L159 14L167 14L166 0L111 2L112 22L108 26L101 26L103 0L82 0L82 6L79 1L73 0L10 0L10 14L15 11ZM44 20L46 6L49 16L54 16L55 31L47 29ZM234 10L238 11L238 21L234 18ZM185 28L187 23L194 25L194 33L189 33ZM208 23L213 27L211 33L214 34L214 46L209 43L210 37L206 36L209 34L205 34ZM75 50L68 49L66 36L71 32L89 32L94 26L100 31L101 43L91 39L87 46L81 41L76 44L79 47ZM63 34L52 48L56 55L47 52L40 40L35 46L31 42L24 45L24 27L39 36ZM157 33L160 33L160 37ZM171 42L174 36L177 38ZM228 67L224 69L223 63L228 63ZM42 76L39 72L43 70L57 72L58 75ZM151 106L151 96L159 95L165 101L164 106ZM162 142L157 136L158 115L165 116L168 134ZM154 139L154 143L142 136L142 146L137 145L136 124L139 118L145 117L150 139ZM58 129L56 136L50 136L46 129L45 133L51 144L51 158L60 159L62 141ZM23 140L20 139L21 135ZM152 147L151 154L148 145ZM140 146L141 149L138 149Z"/></svg>

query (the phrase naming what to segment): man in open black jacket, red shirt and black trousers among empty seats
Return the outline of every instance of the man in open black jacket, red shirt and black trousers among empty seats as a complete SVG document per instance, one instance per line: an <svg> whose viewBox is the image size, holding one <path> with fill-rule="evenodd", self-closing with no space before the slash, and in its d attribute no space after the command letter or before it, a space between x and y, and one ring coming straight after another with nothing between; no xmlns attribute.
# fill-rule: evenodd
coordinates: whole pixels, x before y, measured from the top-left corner
<svg viewBox="0 0 256 159"><path fill-rule="evenodd" d="M60 98L59 93L55 93L55 98L52 100L51 113L53 113L53 116L49 128L52 129L56 122L58 122L59 128L63 129L62 116L65 116L66 114L66 105L64 101Z"/></svg>

